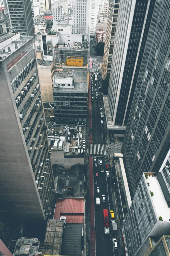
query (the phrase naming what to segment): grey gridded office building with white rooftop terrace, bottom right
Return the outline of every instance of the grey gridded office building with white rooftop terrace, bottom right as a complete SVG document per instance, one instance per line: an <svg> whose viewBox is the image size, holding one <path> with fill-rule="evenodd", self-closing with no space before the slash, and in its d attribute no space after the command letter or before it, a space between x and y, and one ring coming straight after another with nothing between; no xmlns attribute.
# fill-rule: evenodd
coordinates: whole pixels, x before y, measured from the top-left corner
<svg viewBox="0 0 170 256"><path fill-rule="evenodd" d="M169 234L170 208L156 173L149 174L146 179L143 173L122 226L127 256L147 255L147 247L143 248L143 254L138 254L138 251L149 236Z"/></svg>

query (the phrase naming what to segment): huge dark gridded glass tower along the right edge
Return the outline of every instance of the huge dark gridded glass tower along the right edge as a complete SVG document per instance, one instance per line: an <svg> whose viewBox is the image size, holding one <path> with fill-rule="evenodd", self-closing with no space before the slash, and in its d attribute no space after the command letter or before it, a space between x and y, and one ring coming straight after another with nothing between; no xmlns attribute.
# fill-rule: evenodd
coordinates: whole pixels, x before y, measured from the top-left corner
<svg viewBox="0 0 170 256"><path fill-rule="evenodd" d="M122 152L132 195L143 172L158 172L170 148L170 2L156 1L135 79ZM161 25L160 25L161 22Z"/></svg>

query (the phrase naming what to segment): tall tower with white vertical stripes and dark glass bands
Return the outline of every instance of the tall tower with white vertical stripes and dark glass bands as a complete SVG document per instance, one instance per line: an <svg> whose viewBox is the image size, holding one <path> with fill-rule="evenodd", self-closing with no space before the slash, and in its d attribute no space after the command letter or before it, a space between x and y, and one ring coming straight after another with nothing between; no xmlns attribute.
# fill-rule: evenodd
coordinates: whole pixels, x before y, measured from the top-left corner
<svg viewBox="0 0 170 256"><path fill-rule="evenodd" d="M126 129L154 3L153 0L120 1L116 36L112 41L114 48L108 97L105 97L108 129ZM107 24L112 24L109 15L110 10Z"/></svg>

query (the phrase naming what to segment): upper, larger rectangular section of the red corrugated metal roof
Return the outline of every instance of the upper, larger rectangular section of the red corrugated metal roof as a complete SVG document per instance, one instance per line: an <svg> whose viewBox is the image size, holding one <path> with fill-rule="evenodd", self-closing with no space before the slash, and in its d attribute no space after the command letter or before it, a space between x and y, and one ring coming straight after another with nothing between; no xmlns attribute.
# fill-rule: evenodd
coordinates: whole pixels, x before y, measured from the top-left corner
<svg viewBox="0 0 170 256"><path fill-rule="evenodd" d="M84 213L84 198L64 198L61 213Z"/></svg>

